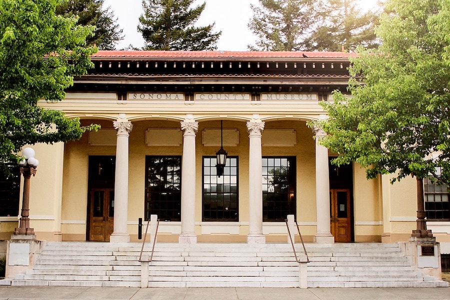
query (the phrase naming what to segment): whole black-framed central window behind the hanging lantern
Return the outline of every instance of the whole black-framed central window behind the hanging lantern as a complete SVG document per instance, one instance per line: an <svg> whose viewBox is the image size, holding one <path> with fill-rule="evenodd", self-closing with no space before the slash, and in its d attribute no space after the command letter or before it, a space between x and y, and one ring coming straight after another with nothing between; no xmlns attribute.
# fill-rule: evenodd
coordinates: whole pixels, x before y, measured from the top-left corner
<svg viewBox="0 0 450 300"><path fill-rule="evenodd" d="M208 163L205 165L205 159ZM216 172L216 156L202 156L201 157L201 220L204 222L238 222L239 221L239 157L228 156L226 158L225 167L223 169L223 175L218 177ZM235 174L233 174L235 173ZM205 180L207 177L207 180ZM222 185L222 192L217 192L217 186L215 185L215 192L212 188L206 191L205 186L211 185L215 182L228 182ZM212 182L211 182L212 181ZM231 184L234 184L233 188ZM226 187L228 186L228 187ZM214 201L211 201L215 194L215 209L211 205ZM220 194L221 196L218 196ZM228 196L227 196L228 194ZM234 199L235 200L234 200ZM222 206L219 206L219 200L221 200ZM228 205L226 205L228 204ZM218 209L222 207L221 209ZM215 215L215 217L214 217ZM234 217L233 217L234 216Z"/></svg>

